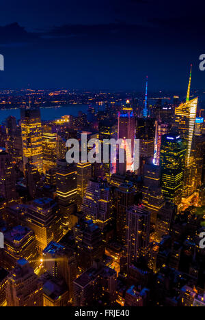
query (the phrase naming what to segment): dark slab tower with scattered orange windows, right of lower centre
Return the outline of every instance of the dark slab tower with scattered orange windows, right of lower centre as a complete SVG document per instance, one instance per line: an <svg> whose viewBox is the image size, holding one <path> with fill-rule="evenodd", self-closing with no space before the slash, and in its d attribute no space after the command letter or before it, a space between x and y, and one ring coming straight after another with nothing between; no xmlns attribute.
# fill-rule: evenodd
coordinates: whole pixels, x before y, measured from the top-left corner
<svg viewBox="0 0 205 320"><path fill-rule="evenodd" d="M131 206L127 212L126 224L126 250L129 266L148 254L150 213L144 206Z"/></svg>

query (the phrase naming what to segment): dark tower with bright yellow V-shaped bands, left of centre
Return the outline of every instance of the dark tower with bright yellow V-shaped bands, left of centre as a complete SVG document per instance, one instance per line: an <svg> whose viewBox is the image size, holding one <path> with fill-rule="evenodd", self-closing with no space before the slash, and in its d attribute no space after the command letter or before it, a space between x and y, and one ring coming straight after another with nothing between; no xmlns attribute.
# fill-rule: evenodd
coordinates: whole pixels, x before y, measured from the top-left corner
<svg viewBox="0 0 205 320"><path fill-rule="evenodd" d="M74 163L68 164L66 159L58 159L55 172L57 198L66 234L72 228L72 215L77 211L77 167Z"/></svg>

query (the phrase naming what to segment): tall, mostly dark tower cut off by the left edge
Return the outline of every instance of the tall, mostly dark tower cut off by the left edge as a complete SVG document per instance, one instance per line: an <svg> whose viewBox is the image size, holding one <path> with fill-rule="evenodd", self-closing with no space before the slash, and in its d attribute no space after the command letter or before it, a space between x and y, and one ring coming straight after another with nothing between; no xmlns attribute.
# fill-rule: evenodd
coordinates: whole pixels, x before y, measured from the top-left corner
<svg viewBox="0 0 205 320"><path fill-rule="evenodd" d="M16 199L16 174L12 159L5 148L0 148L0 195L6 202Z"/></svg>

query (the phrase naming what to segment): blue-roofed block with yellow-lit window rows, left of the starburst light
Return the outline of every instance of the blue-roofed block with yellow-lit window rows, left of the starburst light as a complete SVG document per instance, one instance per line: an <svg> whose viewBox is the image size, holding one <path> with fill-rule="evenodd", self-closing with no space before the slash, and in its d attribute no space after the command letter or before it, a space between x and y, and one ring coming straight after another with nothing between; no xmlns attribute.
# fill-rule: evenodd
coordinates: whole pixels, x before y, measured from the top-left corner
<svg viewBox="0 0 205 320"><path fill-rule="evenodd" d="M25 258L29 263L33 263L36 258L36 237L33 230L16 226L5 232L5 263L8 269L15 267L18 260Z"/></svg>

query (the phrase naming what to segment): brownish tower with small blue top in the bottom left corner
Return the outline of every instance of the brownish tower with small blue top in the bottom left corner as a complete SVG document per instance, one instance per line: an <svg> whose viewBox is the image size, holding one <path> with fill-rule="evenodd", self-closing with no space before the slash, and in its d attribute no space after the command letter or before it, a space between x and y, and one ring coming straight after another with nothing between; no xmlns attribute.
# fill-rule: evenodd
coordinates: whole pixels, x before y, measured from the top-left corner
<svg viewBox="0 0 205 320"><path fill-rule="evenodd" d="M18 261L5 289L8 306L42 306L42 283L25 259Z"/></svg>

